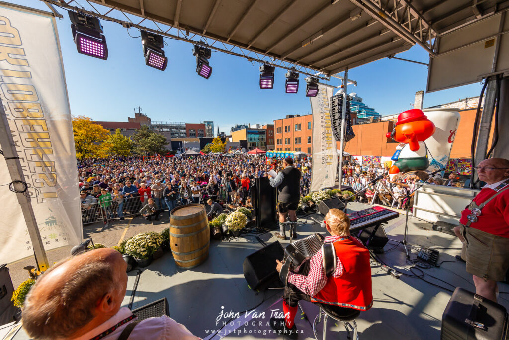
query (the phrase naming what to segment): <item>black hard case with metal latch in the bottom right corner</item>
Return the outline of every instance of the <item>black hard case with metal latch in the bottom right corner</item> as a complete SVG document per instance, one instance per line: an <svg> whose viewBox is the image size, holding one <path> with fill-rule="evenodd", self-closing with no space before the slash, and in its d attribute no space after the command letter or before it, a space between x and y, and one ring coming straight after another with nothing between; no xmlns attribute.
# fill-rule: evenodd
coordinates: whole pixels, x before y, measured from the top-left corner
<svg viewBox="0 0 509 340"><path fill-rule="evenodd" d="M442 340L501 340L507 336L507 311L504 306L483 298L475 313L476 323L485 329L474 327L466 322L474 302L474 293L457 287L442 315Z"/></svg>

